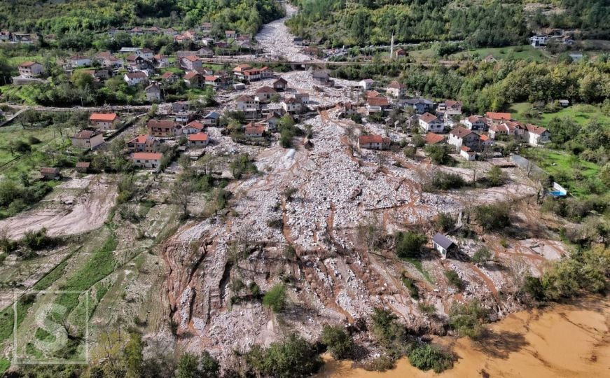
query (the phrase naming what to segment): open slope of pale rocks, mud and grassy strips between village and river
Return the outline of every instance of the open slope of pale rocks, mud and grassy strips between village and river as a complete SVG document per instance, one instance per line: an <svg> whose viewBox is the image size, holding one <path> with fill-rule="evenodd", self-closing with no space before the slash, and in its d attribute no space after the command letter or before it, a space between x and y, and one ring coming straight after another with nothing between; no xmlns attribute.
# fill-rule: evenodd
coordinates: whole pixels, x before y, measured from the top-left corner
<svg viewBox="0 0 610 378"><path fill-rule="evenodd" d="M209 127L212 144L204 157L188 167L174 161L158 174L137 172L129 185L118 174L64 169L62 183L34 209L1 222L11 239L41 227L53 239L33 255L5 258L0 267L5 307L15 293L88 290L69 310L78 311L89 295L94 335L116 325L134 327L169 348L207 349L230 363L233 351L267 345L294 331L314 340L330 323L361 329L356 338L370 345L372 355L375 346L362 325L373 307L392 309L424 334L444 332L454 301L478 297L495 316L506 316L520 307L501 293L510 292L525 272L536 274L564 253L552 231L557 221L541 222L535 204L539 188L517 168L503 168L508 181L495 188L423 190L435 172L459 174L469 182L473 169L484 176L505 158L444 167L422 151L405 158L397 145L390 151L359 148L361 134L389 134L395 140L407 135L340 118L334 104L354 99L352 82L319 88L305 71L282 76L291 90L310 94L312 109L326 109L297 125L310 128L311 135L293 138L293 148L282 148L275 139L270 146L238 144L221 128ZM235 106L235 96L220 96L226 109ZM138 127L119 137L127 139ZM249 169L236 179L234 163L241 154L257 172ZM190 217L183 220L185 201L176 182L185 169L211 172L214 179L211 188L188 195ZM127 200L118 195L118 201L117 192L125 187L131 195ZM480 204L504 201L514 203L509 236L485 233L466 216ZM439 213L458 220L451 237L459 254L447 260L429 241ZM427 235L422 255L396 256L391 235L399 230ZM470 257L482 246L490 248L494 261L478 266ZM462 280L459 290L448 283L448 270ZM418 298L403 277L415 282ZM288 288L281 314L263 307L258 294L278 283ZM51 296L28 303L18 317L18 336L34 337L31 315L62 300ZM434 314L424 313L422 303ZM12 318L0 321L8 352Z"/></svg>

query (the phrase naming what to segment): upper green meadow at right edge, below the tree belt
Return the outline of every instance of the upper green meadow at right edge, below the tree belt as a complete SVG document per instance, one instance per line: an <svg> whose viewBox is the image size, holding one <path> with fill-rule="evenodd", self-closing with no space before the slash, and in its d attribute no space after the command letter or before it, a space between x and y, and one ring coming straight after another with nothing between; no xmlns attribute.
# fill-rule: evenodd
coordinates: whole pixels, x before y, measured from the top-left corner
<svg viewBox="0 0 610 378"><path fill-rule="evenodd" d="M584 125L588 121L592 119L597 119L601 123L610 124L610 117L605 116L602 113L602 109L599 106L595 105L584 105L584 104L576 104L574 106L568 106L565 109L561 109L555 113L543 113L541 118L527 118L525 113L532 107L532 104L529 102L520 102L518 104L513 104L511 106L511 113L513 113L513 118L516 120L520 120L522 122L534 123L536 125L546 127L550 120L555 117L565 118L570 117L576 123L580 125Z"/></svg>

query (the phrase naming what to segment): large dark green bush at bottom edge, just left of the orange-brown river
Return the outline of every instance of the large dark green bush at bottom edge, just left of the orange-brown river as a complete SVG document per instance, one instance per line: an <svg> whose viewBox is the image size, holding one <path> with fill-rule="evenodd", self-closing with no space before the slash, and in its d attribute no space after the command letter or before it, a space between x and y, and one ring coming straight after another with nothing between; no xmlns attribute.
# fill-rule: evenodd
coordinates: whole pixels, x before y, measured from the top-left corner
<svg viewBox="0 0 610 378"><path fill-rule="evenodd" d="M314 347L294 334L283 342L272 342L267 349L253 346L246 362L265 377L309 377L324 365Z"/></svg>

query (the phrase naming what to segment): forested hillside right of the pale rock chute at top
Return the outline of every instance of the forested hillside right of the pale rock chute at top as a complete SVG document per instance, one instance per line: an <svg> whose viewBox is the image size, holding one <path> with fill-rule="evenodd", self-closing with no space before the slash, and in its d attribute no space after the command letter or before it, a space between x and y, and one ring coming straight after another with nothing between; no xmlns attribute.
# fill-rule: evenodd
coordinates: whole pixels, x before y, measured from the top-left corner
<svg viewBox="0 0 610 378"><path fill-rule="evenodd" d="M289 20L295 34L333 45L464 40L472 47L524 43L536 26L583 29L607 37L610 3L560 0L557 11L518 0L294 0L300 13ZM544 3L545 1L540 1ZM546 1L551 3L551 1ZM529 6L529 7L528 7Z"/></svg>

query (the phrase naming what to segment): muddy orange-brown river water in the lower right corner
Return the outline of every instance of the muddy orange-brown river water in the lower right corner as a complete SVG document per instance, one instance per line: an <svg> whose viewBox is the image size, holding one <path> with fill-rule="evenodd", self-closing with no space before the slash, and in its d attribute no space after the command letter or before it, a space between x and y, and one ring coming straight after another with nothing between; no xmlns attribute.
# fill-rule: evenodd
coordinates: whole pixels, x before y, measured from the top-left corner
<svg viewBox="0 0 610 378"><path fill-rule="evenodd" d="M442 374L422 372L406 358L394 370L367 372L350 361L327 360L318 378L610 377L610 297L520 311L490 326L483 342L438 338L457 362Z"/></svg>

